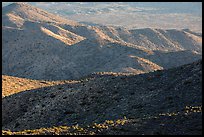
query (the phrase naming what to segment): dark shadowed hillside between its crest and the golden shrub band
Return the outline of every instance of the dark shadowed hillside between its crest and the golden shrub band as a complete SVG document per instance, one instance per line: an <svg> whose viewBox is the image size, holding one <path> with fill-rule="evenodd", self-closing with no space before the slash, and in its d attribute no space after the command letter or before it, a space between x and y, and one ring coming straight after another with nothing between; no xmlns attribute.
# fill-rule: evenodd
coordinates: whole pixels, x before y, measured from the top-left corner
<svg viewBox="0 0 204 137"><path fill-rule="evenodd" d="M98 76L5 97L3 129L88 125L200 106L201 65L196 62L149 74Z"/></svg>

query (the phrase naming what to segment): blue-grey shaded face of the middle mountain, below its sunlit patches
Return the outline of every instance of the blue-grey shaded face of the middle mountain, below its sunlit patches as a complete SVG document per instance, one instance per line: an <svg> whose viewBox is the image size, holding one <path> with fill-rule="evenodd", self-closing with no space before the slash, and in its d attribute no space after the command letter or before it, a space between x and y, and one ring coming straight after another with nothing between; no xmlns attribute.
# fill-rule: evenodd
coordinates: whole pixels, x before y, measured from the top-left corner
<svg viewBox="0 0 204 137"><path fill-rule="evenodd" d="M3 74L45 80L74 79L96 71L114 71L114 69L119 71L128 65L134 67L138 64L135 59L129 60L128 64L125 62L125 59L129 58L128 54L147 54L142 50L111 42L107 42L106 45L109 46L100 47L98 41L92 40L67 46L61 40L48 37L41 31L41 26L37 26L36 23L31 24L29 22L27 26L32 26L32 29L3 28L5 43L2 47ZM32 30L37 35L30 33ZM107 67L104 66L106 64ZM143 70L142 67L137 69Z"/></svg>

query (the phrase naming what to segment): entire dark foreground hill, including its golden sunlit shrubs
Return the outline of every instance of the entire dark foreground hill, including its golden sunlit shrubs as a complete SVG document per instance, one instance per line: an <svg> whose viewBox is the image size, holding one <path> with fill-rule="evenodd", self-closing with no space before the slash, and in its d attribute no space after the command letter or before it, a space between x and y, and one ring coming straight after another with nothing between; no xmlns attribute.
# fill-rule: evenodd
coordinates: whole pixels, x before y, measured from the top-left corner
<svg viewBox="0 0 204 137"><path fill-rule="evenodd" d="M201 60L148 74L93 74L4 97L2 129L4 134L201 135L201 84Z"/></svg>

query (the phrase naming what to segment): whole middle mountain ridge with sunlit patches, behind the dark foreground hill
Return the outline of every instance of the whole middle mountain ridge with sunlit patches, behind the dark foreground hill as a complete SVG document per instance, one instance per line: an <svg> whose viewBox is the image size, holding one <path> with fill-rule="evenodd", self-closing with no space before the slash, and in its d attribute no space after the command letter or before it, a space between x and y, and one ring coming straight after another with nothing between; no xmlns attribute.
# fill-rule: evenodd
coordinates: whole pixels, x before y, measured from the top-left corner
<svg viewBox="0 0 204 137"><path fill-rule="evenodd" d="M2 74L35 80L141 74L202 58L202 35L190 30L89 26L21 2L3 7L2 40Z"/></svg>

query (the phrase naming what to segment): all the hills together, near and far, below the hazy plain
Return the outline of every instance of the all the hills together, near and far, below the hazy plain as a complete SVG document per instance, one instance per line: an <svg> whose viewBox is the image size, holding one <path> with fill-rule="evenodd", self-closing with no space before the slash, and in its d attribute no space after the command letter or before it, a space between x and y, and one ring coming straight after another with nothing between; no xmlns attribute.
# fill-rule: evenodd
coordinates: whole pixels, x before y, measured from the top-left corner
<svg viewBox="0 0 204 137"><path fill-rule="evenodd" d="M2 135L201 135L202 33L2 10Z"/></svg>

